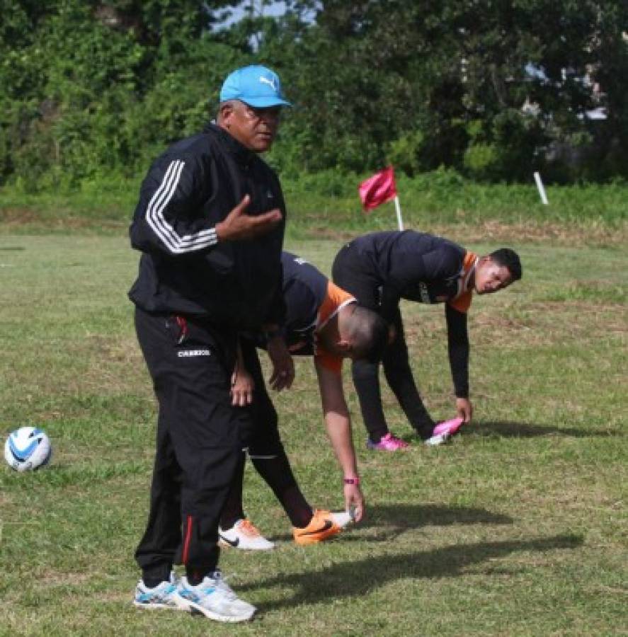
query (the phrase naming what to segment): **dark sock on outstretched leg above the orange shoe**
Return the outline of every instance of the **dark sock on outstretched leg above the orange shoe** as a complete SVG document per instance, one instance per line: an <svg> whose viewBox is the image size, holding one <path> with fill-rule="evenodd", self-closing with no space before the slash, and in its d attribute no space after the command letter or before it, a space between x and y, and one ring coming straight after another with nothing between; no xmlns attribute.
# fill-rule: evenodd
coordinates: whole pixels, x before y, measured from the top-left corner
<svg viewBox="0 0 628 637"><path fill-rule="evenodd" d="M290 463L283 449L274 458L251 457L251 460L258 474L273 489L275 497L280 501L287 516L290 518L292 526L307 527L312 520L314 512L301 493L295 476L292 475Z"/></svg>

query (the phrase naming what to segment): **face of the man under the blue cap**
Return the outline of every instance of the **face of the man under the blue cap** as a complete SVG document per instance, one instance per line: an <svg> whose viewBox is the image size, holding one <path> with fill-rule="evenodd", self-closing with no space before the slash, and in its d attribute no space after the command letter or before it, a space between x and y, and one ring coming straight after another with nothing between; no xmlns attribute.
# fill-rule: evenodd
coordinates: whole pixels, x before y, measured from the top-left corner
<svg viewBox="0 0 628 637"><path fill-rule="evenodd" d="M256 153L267 151L275 140L279 127L280 106L253 108L234 101L224 106L222 121L241 144Z"/></svg>

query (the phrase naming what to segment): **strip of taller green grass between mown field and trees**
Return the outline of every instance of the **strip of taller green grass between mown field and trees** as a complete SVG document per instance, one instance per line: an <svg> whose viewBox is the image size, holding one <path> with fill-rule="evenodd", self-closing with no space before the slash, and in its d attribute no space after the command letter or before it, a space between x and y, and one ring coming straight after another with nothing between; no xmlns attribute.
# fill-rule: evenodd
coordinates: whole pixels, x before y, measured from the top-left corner
<svg viewBox="0 0 628 637"><path fill-rule="evenodd" d="M329 239L339 233L362 234L396 225L392 203L364 214L358 183L366 175L326 171L285 178L282 185L289 213L291 239ZM119 235L137 202L139 178L100 178L71 191L23 193L0 189L1 232L30 234L84 233ZM628 240L628 183L547 186L549 205L539 200L530 177L525 184L481 184L453 171L397 176L406 226L442 231L450 226L467 234L493 237L507 224L518 236L573 243L573 233L586 243Z"/></svg>

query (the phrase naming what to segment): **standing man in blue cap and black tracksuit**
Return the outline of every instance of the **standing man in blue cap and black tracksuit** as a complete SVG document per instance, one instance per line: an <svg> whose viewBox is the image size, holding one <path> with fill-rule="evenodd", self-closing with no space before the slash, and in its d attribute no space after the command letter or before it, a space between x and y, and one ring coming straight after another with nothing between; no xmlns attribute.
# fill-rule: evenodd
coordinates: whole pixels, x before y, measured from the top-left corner
<svg viewBox="0 0 628 637"><path fill-rule="evenodd" d="M245 621L255 612L217 567L219 516L251 407L232 405L239 331L263 331L270 385L290 387L281 251L285 204L258 154L273 144L289 106L270 69L238 69L224 81L217 122L176 142L149 168L130 226L142 252L129 292L135 328L159 402L146 531L135 557L135 605ZM177 580L174 563L185 566Z"/></svg>

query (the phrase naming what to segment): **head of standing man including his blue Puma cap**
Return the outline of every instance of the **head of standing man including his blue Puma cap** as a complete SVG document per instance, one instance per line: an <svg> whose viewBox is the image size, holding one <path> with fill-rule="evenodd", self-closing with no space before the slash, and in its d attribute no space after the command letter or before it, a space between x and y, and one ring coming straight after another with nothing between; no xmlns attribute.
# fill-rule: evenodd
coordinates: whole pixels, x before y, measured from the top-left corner
<svg viewBox="0 0 628 637"><path fill-rule="evenodd" d="M284 106L278 74L253 64L227 76L220 90L218 125L249 150L267 151L275 140Z"/></svg>

